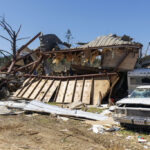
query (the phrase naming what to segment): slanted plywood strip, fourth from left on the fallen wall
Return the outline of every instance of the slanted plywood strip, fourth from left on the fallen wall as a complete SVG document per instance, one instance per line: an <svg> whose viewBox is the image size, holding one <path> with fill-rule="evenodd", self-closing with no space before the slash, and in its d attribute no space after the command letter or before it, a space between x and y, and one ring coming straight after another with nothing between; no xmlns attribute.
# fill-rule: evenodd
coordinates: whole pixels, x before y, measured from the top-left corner
<svg viewBox="0 0 150 150"><path fill-rule="evenodd" d="M49 86L51 85L53 80L48 80L47 83L44 85L43 89L40 91L39 95L37 96L36 100L41 101L44 94L47 92Z"/></svg>

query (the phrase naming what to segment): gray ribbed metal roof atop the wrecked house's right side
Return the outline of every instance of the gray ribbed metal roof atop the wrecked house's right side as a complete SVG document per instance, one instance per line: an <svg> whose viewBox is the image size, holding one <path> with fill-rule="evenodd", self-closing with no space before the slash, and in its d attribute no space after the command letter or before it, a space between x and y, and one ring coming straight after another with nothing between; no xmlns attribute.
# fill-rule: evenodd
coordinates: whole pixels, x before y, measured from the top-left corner
<svg viewBox="0 0 150 150"><path fill-rule="evenodd" d="M136 43L131 41L124 41L122 37L113 36L112 34L106 36L99 36L95 40L80 46L82 48L87 47L102 47L102 46L115 46L115 45L134 45Z"/></svg>

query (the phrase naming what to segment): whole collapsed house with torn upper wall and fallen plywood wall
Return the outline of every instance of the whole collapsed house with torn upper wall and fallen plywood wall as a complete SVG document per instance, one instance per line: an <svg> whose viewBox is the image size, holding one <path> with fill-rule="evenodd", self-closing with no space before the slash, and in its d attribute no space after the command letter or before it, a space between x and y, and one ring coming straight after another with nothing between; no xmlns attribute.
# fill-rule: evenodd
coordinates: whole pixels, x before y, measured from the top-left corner
<svg viewBox="0 0 150 150"><path fill-rule="evenodd" d="M29 70L23 75L26 79L14 96L56 103L81 101L92 105L100 105L104 99L116 98L116 93L124 96L127 91L127 71L134 69L141 48L141 44L116 35L101 36L76 48L53 47L43 51L39 47L30 53L36 53L36 61L12 68L12 72L25 68ZM95 68L90 64L97 57L101 58L101 62ZM57 65L64 59L70 63L69 70L65 71L68 74L38 74L41 68L44 70L47 60Z"/></svg>

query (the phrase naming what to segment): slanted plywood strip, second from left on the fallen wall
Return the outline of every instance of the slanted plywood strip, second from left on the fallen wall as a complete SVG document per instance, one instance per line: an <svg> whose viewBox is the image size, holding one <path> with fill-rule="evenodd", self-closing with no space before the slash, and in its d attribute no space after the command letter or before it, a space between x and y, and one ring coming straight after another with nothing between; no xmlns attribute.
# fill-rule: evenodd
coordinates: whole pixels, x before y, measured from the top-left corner
<svg viewBox="0 0 150 150"><path fill-rule="evenodd" d="M28 98L38 83L39 83L39 79L35 79L32 82L31 86L26 90L26 92L24 93L24 95L22 97Z"/></svg>

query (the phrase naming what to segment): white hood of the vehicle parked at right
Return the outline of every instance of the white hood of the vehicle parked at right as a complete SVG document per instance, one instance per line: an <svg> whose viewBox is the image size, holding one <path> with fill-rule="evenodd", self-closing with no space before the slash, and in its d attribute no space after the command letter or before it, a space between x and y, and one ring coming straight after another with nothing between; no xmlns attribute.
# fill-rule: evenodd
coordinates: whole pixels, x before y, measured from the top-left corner
<svg viewBox="0 0 150 150"><path fill-rule="evenodd" d="M150 98L124 98L124 99L118 101L117 104L150 105Z"/></svg>

